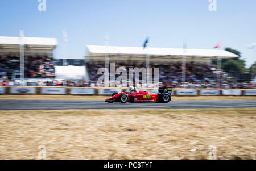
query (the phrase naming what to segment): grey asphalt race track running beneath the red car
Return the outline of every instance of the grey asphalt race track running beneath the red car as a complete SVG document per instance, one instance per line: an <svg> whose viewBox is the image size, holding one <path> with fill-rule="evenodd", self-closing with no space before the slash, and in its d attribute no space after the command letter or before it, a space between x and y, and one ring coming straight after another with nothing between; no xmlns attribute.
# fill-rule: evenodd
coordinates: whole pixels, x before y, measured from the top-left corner
<svg viewBox="0 0 256 171"><path fill-rule="evenodd" d="M211 109L256 107L256 101L171 101L170 103L106 103L104 101L0 100L0 110L60 109Z"/></svg>

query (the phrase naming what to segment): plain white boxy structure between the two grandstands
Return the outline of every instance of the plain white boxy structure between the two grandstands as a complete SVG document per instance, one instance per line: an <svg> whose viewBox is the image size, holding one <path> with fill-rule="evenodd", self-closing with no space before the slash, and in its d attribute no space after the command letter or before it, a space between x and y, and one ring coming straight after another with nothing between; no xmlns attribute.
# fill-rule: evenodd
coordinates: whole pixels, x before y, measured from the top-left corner
<svg viewBox="0 0 256 171"><path fill-rule="evenodd" d="M56 79L85 79L85 66L54 66Z"/></svg>

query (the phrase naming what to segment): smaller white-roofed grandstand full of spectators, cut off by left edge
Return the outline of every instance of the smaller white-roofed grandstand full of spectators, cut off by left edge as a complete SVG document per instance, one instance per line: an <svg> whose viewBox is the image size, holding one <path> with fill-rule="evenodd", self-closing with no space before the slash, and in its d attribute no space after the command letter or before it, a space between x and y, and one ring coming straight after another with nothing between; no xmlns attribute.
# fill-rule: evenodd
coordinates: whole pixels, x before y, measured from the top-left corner
<svg viewBox="0 0 256 171"><path fill-rule="evenodd" d="M54 78L53 51L57 39L23 37L24 77ZM20 78L20 37L0 37L0 77Z"/></svg>

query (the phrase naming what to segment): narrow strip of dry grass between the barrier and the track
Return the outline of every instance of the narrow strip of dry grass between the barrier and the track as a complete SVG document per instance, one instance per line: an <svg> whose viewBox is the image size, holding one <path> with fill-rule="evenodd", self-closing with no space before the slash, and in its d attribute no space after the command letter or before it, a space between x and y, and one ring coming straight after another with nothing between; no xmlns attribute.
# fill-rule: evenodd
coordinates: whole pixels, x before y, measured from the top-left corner
<svg viewBox="0 0 256 171"><path fill-rule="evenodd" d="M105 100L110 96L81 95L0 95L0 99L10 100ZM256 101L256 96L172 96L173 101Z"/></svg>

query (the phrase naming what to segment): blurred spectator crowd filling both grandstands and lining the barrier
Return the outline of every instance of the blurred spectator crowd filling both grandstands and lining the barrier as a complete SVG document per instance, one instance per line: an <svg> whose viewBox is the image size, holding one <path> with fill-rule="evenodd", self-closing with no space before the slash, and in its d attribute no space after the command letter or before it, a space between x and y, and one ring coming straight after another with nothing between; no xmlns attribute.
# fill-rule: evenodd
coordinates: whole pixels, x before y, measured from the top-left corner
<svg viewBox="0 0 256 171"><path fill-rule="evenodd" d="M90 62L86 64L90 81L82 80L56 80L54 60L47 56L25 57L25 77L31 78L24 82L15 79L19 76L19 59L16 56L0 56L0 86L70 86L70 87L98 87L97 74L99 68L105 67L104 62ZM129 62L127 62L129 63ZM115 63L115 70L119 67L143 68L144 64ZM207 64L186 65L185 82L182 82L182 64L160 64L150 65L151 68L159 68L159 82L163 86L179 88L222 88L222 89L253 89L255 86L250 83L238 83L236 79L228 77L225 72L217 72L214 67ZM110 68L110 67L109 67ZM110 70L109 70L110 73ZM10 77L11 74L11 77ZM154 82L154 69L152 69ZM13 76L15 75L15 78ZM117 78L119 75L115 75ZM221 76L221 83L218 78ZM127 80L129 76L127 74ZM134 85L137 87L152 87L149 85Z"/></svg>

